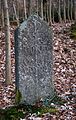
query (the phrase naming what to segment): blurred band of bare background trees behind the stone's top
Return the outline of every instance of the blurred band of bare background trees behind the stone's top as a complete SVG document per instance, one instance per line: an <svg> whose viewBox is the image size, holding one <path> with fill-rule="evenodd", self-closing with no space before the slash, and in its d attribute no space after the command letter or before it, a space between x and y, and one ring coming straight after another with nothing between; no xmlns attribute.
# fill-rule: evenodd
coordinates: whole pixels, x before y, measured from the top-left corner
<svg viewBox="0 0 76 120"><path fill-rule="evenodd" d="M17 24L36 12L47 22L76 20L76 0L7 0L9 19ZM0 0L0 26L4 26L3 3Z"/></svg>

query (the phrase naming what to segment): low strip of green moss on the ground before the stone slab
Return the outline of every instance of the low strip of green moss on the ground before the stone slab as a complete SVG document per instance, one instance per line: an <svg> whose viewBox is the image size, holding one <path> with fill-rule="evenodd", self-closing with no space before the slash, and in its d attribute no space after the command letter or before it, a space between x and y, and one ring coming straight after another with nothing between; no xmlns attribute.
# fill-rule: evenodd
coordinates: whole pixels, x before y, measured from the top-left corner
<svg viewBox="0 0 76 120"><path fill-rule="evenodd" d="M36 113L38 116L42 116L45 113L56 114L58 109L55 107L36 107L32 105L17 105L6 109L0 109L0 120L20 120L25 118L29 113Z"/></svg>

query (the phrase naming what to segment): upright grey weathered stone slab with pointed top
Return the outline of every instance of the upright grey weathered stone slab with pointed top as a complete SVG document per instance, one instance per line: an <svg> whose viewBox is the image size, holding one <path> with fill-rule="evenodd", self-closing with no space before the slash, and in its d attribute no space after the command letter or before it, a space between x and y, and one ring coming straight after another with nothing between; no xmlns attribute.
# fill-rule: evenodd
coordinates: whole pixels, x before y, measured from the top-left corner
<svg viewBox="0 0 76 120"><path fill-rule="evenodd" d="M36 15L24 21L15 32L16 86L22 101L52 98L52 33Z"/></svg>

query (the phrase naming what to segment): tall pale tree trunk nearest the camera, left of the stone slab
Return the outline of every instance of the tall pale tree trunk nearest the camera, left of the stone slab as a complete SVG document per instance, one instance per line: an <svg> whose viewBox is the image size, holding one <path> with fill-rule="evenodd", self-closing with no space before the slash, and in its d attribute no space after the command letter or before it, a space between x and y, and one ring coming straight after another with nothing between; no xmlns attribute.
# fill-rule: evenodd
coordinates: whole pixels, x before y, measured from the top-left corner
<svg viewBox="0 0 76 120"><path fill-rule="evenodd" d="M4 17L5 17L5 42L6 42L6 84L11 84L11 41L10 41L10 23L8 14L8 4L7 0L4 2Z"/></svg>

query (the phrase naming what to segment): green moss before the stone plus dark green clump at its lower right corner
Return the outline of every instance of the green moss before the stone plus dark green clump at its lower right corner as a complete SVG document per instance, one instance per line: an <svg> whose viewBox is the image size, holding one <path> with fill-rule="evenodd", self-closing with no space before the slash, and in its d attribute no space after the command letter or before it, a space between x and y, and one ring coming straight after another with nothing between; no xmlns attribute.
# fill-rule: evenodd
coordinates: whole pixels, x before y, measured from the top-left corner
<svg viewBox="0 0 76 120"><path fill-rule="evenodd" d="M20 120L20 118L25 118L29 113L36 113L37 116L42 116L45 113L56 114L59 111L55 104L63 105L65 102L55 95L51 101L49 100L47 106L39 101L34 105L19 103L6 109L0 109L0 120ZM51 103L54 103L54 106Z"/></svg>

